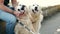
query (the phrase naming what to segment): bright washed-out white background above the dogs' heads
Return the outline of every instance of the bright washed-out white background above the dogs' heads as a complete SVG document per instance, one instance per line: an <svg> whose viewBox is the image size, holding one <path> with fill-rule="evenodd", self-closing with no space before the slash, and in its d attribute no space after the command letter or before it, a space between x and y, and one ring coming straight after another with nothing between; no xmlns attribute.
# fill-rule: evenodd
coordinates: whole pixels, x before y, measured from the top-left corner
<svg viewBox="0 0 60 34"><path fill-rule="evenodd" d="M30 4L39 4L42 7L54 6L59 5L60 0L17 0L19 3L25 3L26 5Z"/></svg>

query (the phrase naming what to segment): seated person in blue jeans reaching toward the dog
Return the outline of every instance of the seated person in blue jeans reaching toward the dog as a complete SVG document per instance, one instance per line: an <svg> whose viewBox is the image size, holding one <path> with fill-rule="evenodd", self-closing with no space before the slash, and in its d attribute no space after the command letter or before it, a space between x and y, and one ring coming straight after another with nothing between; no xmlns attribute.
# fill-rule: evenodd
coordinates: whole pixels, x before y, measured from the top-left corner
<svg viewBox="0 0 60 34"><path fill-rule="evenodd" d="M15 8L17 6L16 0L11 0L12 5ZM14 34L14 25L16 23L16 17L21 14L19 11L14 11L8 8L9 0L0 0L0 19L6 21L6 34Z"/></svg>

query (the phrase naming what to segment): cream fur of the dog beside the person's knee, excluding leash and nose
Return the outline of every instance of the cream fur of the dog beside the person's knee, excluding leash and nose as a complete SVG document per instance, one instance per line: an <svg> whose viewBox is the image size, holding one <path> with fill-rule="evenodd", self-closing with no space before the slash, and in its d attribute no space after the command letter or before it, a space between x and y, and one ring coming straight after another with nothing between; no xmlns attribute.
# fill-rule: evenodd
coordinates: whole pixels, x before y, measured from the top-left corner
<svg viewBox="0 0 60 34"><path fill-rule="evenodd" d="M18 20L23 23L24 25L26 25L28 28L30 28L31 31L35 32L34 31L34 28L33 28L33 25L32 25L32 22L30 21L29 19L29 12L28 12L28 9L27 7L25 6L24 10L21 10L21 6L22 5L18 5L16 10L18 11L18 9L20 9L20 12L22 11L25 11L24 14L20 15L20 17L18 17ZM16 26L15 26L15 34L33 34L29 31L27 31L27 29L25 29L24 27L22 27L20 25L20 23L17 23Z"/></svg>

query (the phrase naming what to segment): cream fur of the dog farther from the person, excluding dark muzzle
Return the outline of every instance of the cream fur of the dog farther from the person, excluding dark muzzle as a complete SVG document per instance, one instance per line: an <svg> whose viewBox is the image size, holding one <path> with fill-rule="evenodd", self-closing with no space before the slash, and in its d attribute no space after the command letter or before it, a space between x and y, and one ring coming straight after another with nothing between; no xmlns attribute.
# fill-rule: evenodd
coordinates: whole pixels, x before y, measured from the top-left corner
<svg viewBox="0 0 60 34"><path fill-rule="evenodd" d="M34 6L30 6L30 8L29 8L29 13L31 14L30 19L32 21L35 32L39 33L40 28L41 28L41 22L43 20L42 11L39 6L38 6L38 12L36 12L36 13L33 13L32 9L34 9Z"/></svg>

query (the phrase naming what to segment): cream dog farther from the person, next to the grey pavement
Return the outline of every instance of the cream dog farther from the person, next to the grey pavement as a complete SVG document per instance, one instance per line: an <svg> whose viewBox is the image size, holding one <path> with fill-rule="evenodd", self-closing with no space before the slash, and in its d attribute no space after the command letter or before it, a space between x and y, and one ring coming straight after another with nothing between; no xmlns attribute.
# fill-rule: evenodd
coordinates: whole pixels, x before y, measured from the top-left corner
<svg viewBox="0 0 60 34"><path fill-rule="evenodd" d="M39 30L41 28L41 22L43 21L43 12L41 11L40 6L37 4L30 5L29 14L31 14L30 20L33 24L35 32L40 34Z"/></svg>

